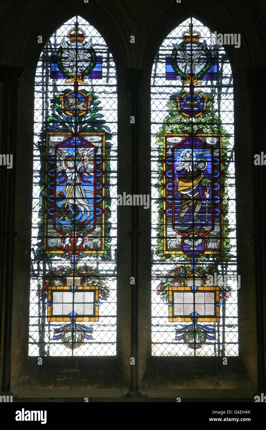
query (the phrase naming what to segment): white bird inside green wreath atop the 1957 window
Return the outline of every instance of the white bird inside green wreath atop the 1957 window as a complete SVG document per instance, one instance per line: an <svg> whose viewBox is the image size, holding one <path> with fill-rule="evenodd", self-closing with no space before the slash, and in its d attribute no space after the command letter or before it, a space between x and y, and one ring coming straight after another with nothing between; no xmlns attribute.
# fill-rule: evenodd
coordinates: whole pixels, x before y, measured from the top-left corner
<svg viewBox="0 0 266 430"><path fill-rule="evenodd" d="M73 49L65 37L62 40L61 47L63 49L62 63L66 71L72 74L76 72L80 74L82 71L84 71L90 65L91 55L89 52L87 52L87 49L89 49L91 46L92 38L90 38L90 40L85 43L85 45L83 45L81 42L78 42L77 50Z"/></svg>

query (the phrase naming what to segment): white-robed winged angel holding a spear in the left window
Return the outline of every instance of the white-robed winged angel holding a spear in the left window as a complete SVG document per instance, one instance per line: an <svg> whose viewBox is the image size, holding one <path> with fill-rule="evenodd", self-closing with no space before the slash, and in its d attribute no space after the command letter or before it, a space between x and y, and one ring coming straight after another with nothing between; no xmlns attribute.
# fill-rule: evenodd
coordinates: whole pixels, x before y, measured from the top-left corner
<svg viewBox="0 0 266 430"><path fill-rule="evenodd" d="M80 148L76 151L78 164L75 166L75 158L65 151L62 147L57 147L57 170L66 172L66 203L65 208L69 205L78 206L81 216L87 212L86 218L90 216L90 206L86 191L81 183L80 173L93 172L94 169L94 148ZM59 191L60 194L63 192ZM78 218L81 219L81 216Z"/></svg>

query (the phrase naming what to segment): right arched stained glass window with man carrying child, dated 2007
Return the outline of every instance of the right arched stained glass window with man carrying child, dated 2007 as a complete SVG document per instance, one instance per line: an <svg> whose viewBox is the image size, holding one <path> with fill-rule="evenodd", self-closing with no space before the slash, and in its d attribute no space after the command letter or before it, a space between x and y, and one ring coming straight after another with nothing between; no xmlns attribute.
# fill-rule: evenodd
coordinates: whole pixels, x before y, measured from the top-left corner
<svg viewBox="0 0 266 430"><path fill-rule="evenodd" d="M189 18L152 70L152 355L238 355L233 79Z"/></svg>

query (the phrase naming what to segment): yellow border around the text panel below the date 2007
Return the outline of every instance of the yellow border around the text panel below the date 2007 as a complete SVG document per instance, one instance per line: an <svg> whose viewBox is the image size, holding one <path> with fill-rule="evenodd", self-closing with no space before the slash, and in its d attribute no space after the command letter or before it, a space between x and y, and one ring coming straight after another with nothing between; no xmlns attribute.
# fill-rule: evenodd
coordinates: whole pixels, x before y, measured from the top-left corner
<svg viewBox="0 0 266 430"><path fill-rule="evenodd" d="M191 291L190 287L187 286L169 286L169 301L171 301L173 303L173 291ZM212 292L212 291L216 291L216 301L219 301L219 286L201 286L198 287L197 291L204 291L204 292ZM193 293L191 293L193 294ZM174 303L173 303L174 305ZM214 304L215 306L215 304ZM173 316L173 306L169 306L169 321L170 322L191 322L191 318L190 317L181 317L181 316ZM216 316L214 317L199 317L198 318L199 322L219 322L220 321L220 307L216 306Z"/></svg>

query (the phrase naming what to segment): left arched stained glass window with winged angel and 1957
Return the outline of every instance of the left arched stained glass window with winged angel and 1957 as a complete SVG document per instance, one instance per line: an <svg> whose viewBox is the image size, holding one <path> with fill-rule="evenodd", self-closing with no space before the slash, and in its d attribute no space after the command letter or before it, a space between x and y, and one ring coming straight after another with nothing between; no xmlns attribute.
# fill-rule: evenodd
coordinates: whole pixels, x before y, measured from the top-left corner
<svg viewBox="0 0 266 430"><path fill-rule="evenodd" d="M116 187L115 64L76 16L36 70L29 355L116 354Z"/></svg>

